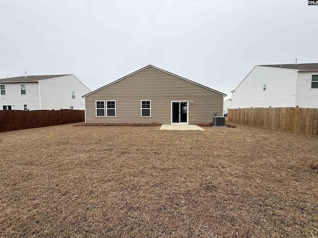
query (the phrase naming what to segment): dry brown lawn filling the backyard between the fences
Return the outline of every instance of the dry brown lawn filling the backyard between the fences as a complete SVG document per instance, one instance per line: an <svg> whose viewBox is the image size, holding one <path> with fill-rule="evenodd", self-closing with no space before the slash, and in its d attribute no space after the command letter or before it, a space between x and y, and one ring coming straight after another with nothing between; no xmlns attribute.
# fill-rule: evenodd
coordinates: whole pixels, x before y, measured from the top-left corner
<svg viewBox="0 0 318 238"><path fill-rule="evenodd" d="M59 125L0 133L0 237L318 236L318 138Z"/></svg>

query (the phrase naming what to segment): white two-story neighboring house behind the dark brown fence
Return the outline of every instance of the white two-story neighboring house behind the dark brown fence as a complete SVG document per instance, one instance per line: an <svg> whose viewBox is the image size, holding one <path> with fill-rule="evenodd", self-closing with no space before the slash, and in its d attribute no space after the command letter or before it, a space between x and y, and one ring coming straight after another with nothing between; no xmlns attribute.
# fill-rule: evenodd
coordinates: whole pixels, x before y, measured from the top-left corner
<svg viewBox="0 0 318 238"><path fill-rule="evenodd" d="M89 92L73 74L1 78L0 110L84 110Z"/></svg>

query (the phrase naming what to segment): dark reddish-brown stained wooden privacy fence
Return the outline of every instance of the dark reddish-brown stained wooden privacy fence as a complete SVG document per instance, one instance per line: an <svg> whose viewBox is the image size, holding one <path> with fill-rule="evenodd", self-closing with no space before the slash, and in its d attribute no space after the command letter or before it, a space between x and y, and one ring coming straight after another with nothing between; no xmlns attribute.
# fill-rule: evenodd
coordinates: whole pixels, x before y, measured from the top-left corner
<svg viewBox="0 0 318 238"><path fill-rule="evenodd" d="M82 110L0 111L0 132L61 125L85 120Z"/></svg>

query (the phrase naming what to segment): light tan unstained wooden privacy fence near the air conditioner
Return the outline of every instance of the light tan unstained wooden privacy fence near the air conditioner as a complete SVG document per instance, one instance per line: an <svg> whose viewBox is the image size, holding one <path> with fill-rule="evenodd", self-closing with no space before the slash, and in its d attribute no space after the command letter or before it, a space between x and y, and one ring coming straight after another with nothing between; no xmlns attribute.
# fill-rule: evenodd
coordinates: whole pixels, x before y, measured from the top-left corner
<svg viewBox="0 0 318 238"><path fill-rule="evenodd" d="M240 108L228 110L228 121L318 135L317 108Z"/></svg>

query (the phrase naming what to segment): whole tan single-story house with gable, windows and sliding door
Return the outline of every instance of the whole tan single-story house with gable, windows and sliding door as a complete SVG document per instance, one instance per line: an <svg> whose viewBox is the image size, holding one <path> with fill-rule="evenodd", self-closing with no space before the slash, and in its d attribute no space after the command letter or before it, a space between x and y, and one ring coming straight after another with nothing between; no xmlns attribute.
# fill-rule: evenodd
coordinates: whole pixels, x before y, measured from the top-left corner
<svg viewBox="0 0 318 238"><path fill-rule="evenodd" d="M84 95L86 122L209 123L225 94L149 65Z"/></svg>

